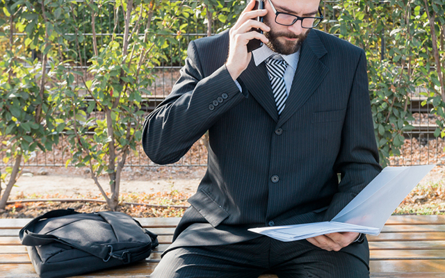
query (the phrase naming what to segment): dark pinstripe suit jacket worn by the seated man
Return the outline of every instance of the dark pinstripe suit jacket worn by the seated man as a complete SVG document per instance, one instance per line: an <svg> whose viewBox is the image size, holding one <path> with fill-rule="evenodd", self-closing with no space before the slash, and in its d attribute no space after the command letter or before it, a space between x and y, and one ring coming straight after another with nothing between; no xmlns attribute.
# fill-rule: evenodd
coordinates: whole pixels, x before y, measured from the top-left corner
<svg viewBox="0 0 445 278"><path fill-rule="evenodd" d="M228 49L227 31L192 41L181 77L144 124L143 148L159 164L178 161L209 130L207 173L170 248L330 220L381 170L362 49L312 30L280 117L264 63L252 58L240 92L224 65ZM367 248L351 252L366 260Z"/></svg>

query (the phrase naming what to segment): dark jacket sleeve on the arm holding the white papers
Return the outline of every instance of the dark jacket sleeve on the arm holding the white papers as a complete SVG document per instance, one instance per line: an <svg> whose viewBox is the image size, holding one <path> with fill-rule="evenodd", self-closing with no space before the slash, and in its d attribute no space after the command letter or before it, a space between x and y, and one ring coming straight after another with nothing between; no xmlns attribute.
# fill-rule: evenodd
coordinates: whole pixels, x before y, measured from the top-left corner
<svg viewBox="0 0 445 278"><path fill-rule="evenodd" d="M341 181L327 208L325 221L334 218L382 170L378 163L369 100L366 56L363 50L361 52L341 131L341 149L334 163L334 170L341 174Z"/></svg>

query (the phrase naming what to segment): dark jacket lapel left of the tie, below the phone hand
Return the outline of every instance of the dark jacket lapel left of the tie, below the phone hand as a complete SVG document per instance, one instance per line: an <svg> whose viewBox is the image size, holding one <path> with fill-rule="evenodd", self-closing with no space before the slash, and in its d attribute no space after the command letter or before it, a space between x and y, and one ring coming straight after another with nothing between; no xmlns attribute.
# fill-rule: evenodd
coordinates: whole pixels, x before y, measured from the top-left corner
<svg viewBox="0 0 445 278"><path fill-rule="evenodd" d="M278 122L277 106L275 105L275 99L273 99L272 86L267 75L266 65L261 63L256 66L252 56L248 68L241 74L240 79L248 88L249 94L257 99L275 122Z"/></svg>

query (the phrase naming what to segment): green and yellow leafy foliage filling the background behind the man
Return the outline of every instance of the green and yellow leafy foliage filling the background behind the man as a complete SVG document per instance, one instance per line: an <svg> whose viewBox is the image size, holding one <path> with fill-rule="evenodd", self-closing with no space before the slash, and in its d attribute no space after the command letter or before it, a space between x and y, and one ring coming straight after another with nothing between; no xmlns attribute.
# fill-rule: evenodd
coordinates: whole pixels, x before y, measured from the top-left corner
<svg viewBox="0 0 445 278"><path fill-rule="evenodd" d="M412 129L412 97L425 97L435 136L444 137L445 0L321 6L320 28L366 51L380 163L399 154ZM111 195L102 191L115 208L156 68L183 65L190 40L230 28L244 7L244 0L0 0L2 152L22 161L63 132L71 163L90 167L99 188L97 177L108 175Z"/></svg>

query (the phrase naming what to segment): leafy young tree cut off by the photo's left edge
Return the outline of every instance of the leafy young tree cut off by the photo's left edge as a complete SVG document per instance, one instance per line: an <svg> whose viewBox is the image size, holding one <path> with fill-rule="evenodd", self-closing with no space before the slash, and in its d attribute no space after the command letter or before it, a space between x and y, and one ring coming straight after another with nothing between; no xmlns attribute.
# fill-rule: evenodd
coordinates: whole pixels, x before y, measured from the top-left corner
<svg viewBox="0 0 445 278"><path fill-rule="evenodd" d="M46 1L48 2L48 1ZM1 179L9 176L0 200L0 209L6 207L10 192L20 176L21 165L31 152L50 150L58 142L58 132L63 124L56 117L54 92L47 90L49 68L48 54L54 41L51 22L47 19L47 6L43 1L3 1L1 9L8 22L1 26L8 36L8 49L0 62L0 136L1 150L6 153L3 163L12 161L13 167L6 167ZM2 19L3 20L3 19ZM37 22L40 21L40 24ZM42 52L42 61L23 56L23 44L17 44L15 30L26 32L26 45ZM54 63L51 63L54 66ZM0 193L2 188L0 188Z"/></svg>

